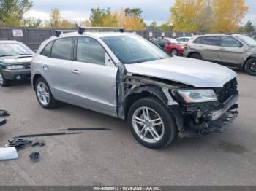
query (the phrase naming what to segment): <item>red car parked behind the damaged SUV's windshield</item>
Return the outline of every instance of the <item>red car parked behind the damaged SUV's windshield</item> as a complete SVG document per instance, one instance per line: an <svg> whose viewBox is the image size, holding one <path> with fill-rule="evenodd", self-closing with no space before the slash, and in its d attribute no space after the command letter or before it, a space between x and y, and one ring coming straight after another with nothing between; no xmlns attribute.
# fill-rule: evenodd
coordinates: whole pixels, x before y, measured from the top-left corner
<svg viewBox="0 0 256 191"><path fill-rule="evenodd" d="M151 39L151 42L159 45L162 48L162 50L165 50L165 52L167 52L170 55L183 55L184 44L178 42L176 39L159 37Z"/></svg>

